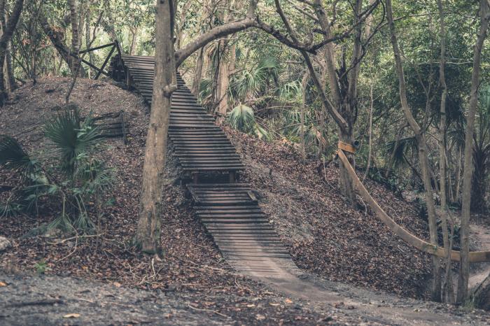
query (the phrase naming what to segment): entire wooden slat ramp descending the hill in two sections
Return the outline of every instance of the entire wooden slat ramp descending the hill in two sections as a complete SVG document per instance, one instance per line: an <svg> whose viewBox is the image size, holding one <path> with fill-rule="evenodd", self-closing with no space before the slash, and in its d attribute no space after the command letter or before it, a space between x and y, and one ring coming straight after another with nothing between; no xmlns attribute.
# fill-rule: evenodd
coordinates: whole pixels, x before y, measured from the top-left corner
<svg viewBox="0 0 490 326"><path fill-rule="evenodd" d="M112 76L124 78L130 89L151 104L154 63L153 57L122 55L111 62ZM272 278L297 271L250 186L235 183L235 173L244 169L235 146L191 94L179 73L177 82L179 89L172 94L169 139L181 168L193 179L188 190L195 202L195 214L223 257L238 271ZM209 174L223 173L229 174L229 183L199 183L202 175L209 181Z"/></svg>

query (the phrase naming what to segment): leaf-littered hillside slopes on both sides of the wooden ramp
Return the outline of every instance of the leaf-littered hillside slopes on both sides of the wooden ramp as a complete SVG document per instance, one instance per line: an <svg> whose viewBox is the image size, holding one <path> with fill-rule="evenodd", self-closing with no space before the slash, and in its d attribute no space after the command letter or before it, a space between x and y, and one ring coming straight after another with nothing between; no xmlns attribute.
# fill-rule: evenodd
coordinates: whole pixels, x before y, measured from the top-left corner
<svg viewBox="0 0 490 326"><path fill-rule="evenodd" d="M53 108L63 103L66 81L48 78L36 85L23 87L16 93L16 103L6 106L2 111L1 129L17 135L29 152L38 151L38 155L47 155L49 150L48 145L42 141L41 125L55 114ZM120 139L109 139L103 151L104 160L117 171L116 185L111 194L114 204L106 208L103 222L106 237L117 243L129 243L139 209L144 137L148 123L146 106L134 94L93 80L80 80L71 100L85 114L92 111L95 115L101 115L120 110L127 113L127 145L124 146ZM289 246L299 267L327 276L332 281L388 290L411 297L420 296L423 280L428 274L427 257L395 238L370 214L368 208L353 210L346 206L344 199L339 196L337 169L333 164L325 169L325 180L322 180L316 169L318 162L299 163L300 157L291 146L265 143L230 129L227 132L247 166L242 180L250 181L253 188L258 190L262 208L269 215L281 239ZM178 171L175 171L172 159L169 160L167 171L172 174L172 178L177 177ZM2 181L7 182L5 179ZM368 183L368 186L381 206L397 222L415 234L426 236L425 226L416 217L412 206L375 183ZM182 188L168 185L164 201L162 246L166 254L184 256L195 264L223 267L221 255L200 222L193 218ZM20 237L40 222L49 221L53 218L55 207L46 204L41 211L43 215L40 219L20 216L15 220L7 220L10 222L9 233ZM47 246L45 241L19 238L16 245L20 253L4 255L4 261L13 260L33 266L43 257L52 264L53 270L62 269L69 274L89 274L97 278L123 277L130 283L141 283L126 268L113 270L106 262L99 263L105 255L118 255L116 252L120 248L111 248L109 253L104 250L91 252L92 244L85 241L77 243L77 253L73 255L76 260L62 260L71 253L70 247L55 246L56 250L48 250L48 253L43 254ZM25 246L35 250L22 250ZM113 247L114 243L108 243L107 246ZM87 269L80 270L78 264L85 265ZM124 257L120 264L130 267L133 273L134 269L143 272L146 268L137 257L131 255ZM179 278L183 273L179 269L173 269L170 264L165 270L167 274L162 276L159 285L152 286L166 288L173 286L174 281L180 283ZM190 280L186 276L186 281L181 283L197 283L192 281L193 277ZM163 281L164 278L167 281Z"/></svg>

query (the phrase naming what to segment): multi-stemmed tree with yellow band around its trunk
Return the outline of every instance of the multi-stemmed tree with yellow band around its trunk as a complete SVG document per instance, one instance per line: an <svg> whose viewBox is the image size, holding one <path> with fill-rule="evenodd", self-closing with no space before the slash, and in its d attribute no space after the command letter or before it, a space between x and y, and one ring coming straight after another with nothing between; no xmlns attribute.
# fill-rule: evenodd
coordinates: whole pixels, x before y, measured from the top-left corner
<svg viewBox="0 0 490 326"><path fill-rule="evenodd" d="M281 8L279 0L275 0L276 10L283 21L286 30L290 38L292 39L295 48L299 48L304 62L307 64L309 74L314 81L314 85L320 94L323 106L327 109L328 113L332 115L333 120L338 127L339 141L351 145L354 141L354 124L357 118L357 97L358 97L358 77L360 72L360 60L363 57L362 50L370 41L370 36L364 43L361 40L363 35L363 22L369 17L379 4L379 1L372 1L370 6L366 10L363 10L363 1L356 0L353 5L353 20L351 27L345 31L341 36L334 36L332 31L332 23L327 14L327 10L323 7L323 1L302 1L308 3L314 10L316 15L315 23L319 24L319 30L323 35L323 42L321 46L325 46L325 66L328 75L328 85L330 86L330 97L328 92L321 83L321 78L318 77L318 73L313 66L310 55L307 50L304 50L304 46L300 42L300 36L295 30L293 30L288 17ZM336 3L334 4L334 6ZM366 34L370 34L368 31ZM311 32L312 35L312 32ZM337 60L335 59L336 53L334 48L334 41L348 36L353 36L351 60L348 64L346 62L346 49L342 50L342 59L340 60L340 66L337 67ZM312 37L312 36L311 36ZM352 153L346 154L349 162L355 165L354 156ZM349 203L353 206L356 203L356 192L354 190L353 180L350 178L349 173L346 170L346 166L340 163L339 166L339 186L342 194L347 198Z"/></svg>

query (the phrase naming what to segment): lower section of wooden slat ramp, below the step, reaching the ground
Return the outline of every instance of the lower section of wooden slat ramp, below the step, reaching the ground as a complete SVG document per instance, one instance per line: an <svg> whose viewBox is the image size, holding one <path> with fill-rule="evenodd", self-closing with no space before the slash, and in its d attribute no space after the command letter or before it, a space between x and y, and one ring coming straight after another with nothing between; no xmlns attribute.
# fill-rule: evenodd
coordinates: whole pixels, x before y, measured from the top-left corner
<svg viewBox="0 0 490 326"><path fill-rule="evenodd" d="M279 276L296 269L288 250L244 183L188 185L195 213L233 267L248 274Z"/></svg>

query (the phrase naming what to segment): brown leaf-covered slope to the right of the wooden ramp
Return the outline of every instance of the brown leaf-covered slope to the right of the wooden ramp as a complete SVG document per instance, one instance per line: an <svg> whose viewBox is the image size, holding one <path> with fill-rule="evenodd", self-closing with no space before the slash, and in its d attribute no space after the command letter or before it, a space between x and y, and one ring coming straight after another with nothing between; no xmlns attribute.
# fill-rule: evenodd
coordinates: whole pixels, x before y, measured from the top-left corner
<svg viewBox="0 0 490 326"><path fill-rule="evenodd" d="M423 295L423 280L430 272L427 255L393 235L360 197L360 209L347 206L339 194L335 164L321 176L318 162L300 163L293 146L227 130L247 166L244 180L258 190L260 204L299 267L335 281ZM377 183L367 181L367 187L396 222L428 237L411 204Z"/></svg>

